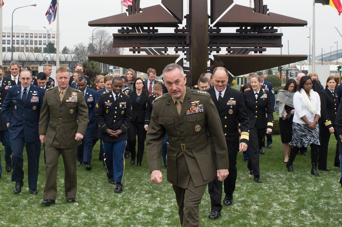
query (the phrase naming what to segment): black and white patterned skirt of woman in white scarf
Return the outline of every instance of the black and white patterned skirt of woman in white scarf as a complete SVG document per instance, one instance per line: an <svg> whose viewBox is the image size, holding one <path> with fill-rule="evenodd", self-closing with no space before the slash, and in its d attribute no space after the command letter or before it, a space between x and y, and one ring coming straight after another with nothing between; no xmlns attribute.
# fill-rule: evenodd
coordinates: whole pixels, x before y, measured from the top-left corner
<svg viewBox="0 0 342 227"><path fill-rule="evenodd" d="M290 145L296 147L307 147L310 144L320 145L318 138L318 124L314 129L307 127L307 124L299 124L293 122L292 125L292 140Z"/></svg>

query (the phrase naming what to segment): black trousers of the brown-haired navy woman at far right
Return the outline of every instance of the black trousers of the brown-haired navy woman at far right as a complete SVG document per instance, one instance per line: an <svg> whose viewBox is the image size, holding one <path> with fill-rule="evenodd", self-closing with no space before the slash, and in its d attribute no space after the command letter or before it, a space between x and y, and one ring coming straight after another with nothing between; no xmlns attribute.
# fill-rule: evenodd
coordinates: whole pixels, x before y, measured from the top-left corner
<svg viewBox="0 0 342 227"><path fill-rule="evenodd" d="M332 125L334 127L334 125ZM334 127L335 128L335 127ZM319 142L321 145L318 147L318 168L326 169L327 168L327 157L328 157L328 145L331 133L329 129L324 124L319 124ZM336 142L336 151L335 151L335 160L334 164L340 163L340 153L339 153L339 135L337 131L334 132Z"/></svg>

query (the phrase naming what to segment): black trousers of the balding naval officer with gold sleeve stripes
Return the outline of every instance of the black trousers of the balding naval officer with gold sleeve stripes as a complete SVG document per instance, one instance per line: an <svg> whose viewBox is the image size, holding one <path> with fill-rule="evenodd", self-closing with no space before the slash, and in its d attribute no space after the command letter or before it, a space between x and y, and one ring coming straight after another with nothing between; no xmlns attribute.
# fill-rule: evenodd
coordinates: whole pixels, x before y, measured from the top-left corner
<svg viewBox="0 0 342 227"><path fill-rule="evenodd" d="M229 175L224 180L224 193L229 199L233 199L233 192L235 190L237 168L236 157L237 153L229 154ZM219 181L217 177L208 184L208 192L210 195L211 211L221 211L222 205L222 181Z"/></svg>

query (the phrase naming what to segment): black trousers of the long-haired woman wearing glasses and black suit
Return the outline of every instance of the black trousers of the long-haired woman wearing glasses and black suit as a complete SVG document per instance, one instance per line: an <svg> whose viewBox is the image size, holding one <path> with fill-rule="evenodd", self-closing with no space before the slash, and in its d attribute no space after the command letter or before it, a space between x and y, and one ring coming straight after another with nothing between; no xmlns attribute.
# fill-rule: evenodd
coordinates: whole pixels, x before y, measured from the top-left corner
<svg viewBox="0 0 342 227"><path fill-rule="evenodd" d="M136 133L136 134L135 134ZM136 154L136 162L141 162L144 155L146 130L144 128L144 122L131 122L128 127L128 145L131 152L131 159L135 160L135 145L136 137L138 136L138 152Z"/></svg>

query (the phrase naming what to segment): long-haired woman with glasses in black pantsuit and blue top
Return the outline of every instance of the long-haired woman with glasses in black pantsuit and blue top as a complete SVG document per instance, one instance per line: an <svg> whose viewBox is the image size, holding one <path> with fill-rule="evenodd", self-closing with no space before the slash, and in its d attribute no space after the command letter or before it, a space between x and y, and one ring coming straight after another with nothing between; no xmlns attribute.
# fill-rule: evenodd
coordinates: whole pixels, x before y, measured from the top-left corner
<svg viewBox="0 0 342 227"><path fill-rule="evenodd" d="M128 95L131 97L132 101L132 119L131 124L128 127L128 145L131 152L131 164L135 164L135 135L137 135L138 151L136 154L136 166L141 167L146 138L144 122L148 93L146 93L144 82L140 77L134 81L133 91L130 91Z"/></svg>

